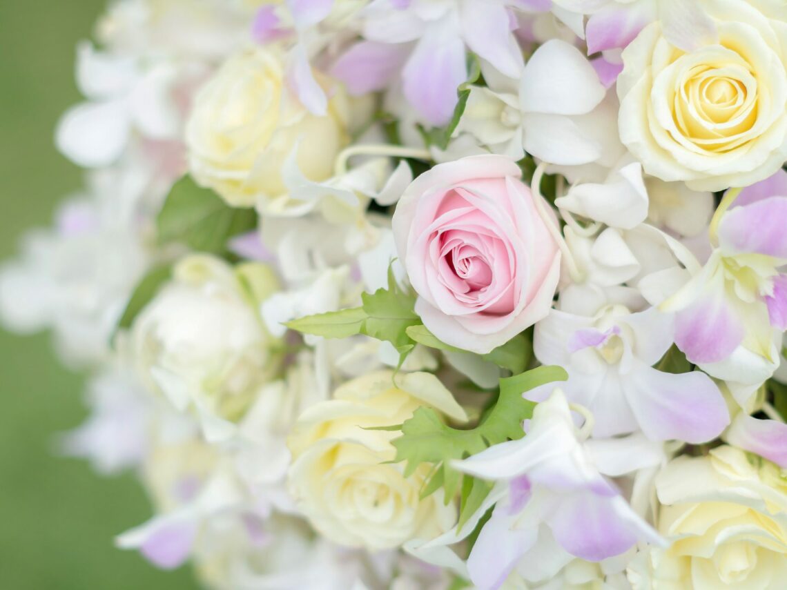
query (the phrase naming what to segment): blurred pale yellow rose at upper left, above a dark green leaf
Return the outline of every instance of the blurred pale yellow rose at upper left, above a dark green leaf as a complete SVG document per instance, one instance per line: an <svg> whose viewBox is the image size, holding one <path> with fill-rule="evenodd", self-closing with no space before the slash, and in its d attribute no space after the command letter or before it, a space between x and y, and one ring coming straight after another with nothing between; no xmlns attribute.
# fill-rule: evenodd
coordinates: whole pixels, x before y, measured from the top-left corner
<svg viewBox="0 0 787 590"><path fill-rule="evenodd" d="M186 127L191 174L230 205L246 207L285 192L282 169L293 149L310 180L331 176L348 142L347 99L331 89L316 116L290 94L278 53L256 48L230 57L199 90Z"/></svg>

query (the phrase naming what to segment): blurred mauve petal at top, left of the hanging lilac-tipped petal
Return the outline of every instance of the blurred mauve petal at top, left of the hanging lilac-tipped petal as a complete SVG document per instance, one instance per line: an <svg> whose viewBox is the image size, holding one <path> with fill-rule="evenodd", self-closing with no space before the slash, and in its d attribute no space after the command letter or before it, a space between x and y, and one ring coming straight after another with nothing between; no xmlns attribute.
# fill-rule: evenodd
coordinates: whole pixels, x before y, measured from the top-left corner
<svg viewBox="0 0 787 590"><path fill-rule="evenodd" d="M338 58L331 74L350 94L382 90L404 65L407 52L408 45L361 41Z"/></svg>

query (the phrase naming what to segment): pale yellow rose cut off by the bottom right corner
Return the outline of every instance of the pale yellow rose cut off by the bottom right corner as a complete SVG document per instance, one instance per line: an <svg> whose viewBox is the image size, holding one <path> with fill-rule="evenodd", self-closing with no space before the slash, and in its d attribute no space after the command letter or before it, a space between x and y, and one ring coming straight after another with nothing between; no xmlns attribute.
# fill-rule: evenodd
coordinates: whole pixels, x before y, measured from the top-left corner
<svg viewBox="0 0 787 590"><path fill-rule="evenodd" d="M674 459L656 489L660 533L672 544L637 556L635 590L785 587L787 474L778 466L724 446Z"/></svg>

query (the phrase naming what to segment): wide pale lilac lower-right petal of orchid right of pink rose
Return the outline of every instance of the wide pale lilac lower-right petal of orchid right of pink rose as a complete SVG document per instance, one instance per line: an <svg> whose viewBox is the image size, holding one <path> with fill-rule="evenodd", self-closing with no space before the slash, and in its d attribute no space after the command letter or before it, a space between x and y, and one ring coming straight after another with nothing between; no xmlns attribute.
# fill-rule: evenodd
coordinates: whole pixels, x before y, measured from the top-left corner
<svg viewBox="0 0 787 590"><path fill-rule="evenodd" d="M671 374L643 366L626 379L626 400L652 441L711 441L730 423L719 388L708 375Z"/></svg>

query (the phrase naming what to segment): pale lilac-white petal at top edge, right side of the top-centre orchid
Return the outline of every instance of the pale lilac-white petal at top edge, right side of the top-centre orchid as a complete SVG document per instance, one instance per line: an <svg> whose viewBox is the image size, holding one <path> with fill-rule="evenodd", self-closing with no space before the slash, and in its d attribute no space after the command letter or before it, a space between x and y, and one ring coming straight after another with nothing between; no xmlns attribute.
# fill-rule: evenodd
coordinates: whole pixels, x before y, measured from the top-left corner
<svg viewBox="0 0 787 590"><path fill-rule="evenodd" d="M501 74L519 77L522 50L511 34L508 10L502 4L465 0L461 9L462 36L467 46Z"/></svg>

